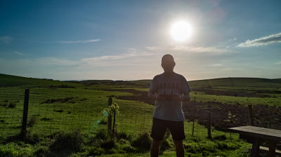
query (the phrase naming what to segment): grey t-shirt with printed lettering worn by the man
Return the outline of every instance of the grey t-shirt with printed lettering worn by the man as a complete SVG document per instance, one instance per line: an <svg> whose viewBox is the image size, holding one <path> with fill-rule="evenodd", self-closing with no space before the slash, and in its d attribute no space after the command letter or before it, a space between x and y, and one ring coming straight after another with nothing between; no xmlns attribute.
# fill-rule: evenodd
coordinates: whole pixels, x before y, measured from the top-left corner
<svg viewBox="0 0 281 157"><path fill-rule="evenodd" d="M150 83L149 94L154 95L189 95L191 88L184 76L173 73L169 76L159 74ZM154 118L168 121L184 121L181 101L155 101Z"/></svg>

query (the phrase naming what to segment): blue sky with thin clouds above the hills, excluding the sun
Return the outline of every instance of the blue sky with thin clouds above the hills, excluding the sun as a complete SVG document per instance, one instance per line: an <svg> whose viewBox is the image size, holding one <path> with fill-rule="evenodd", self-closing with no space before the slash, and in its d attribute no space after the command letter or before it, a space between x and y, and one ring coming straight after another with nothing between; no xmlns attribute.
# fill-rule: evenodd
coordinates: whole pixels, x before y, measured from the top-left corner
<svg viewBox="0 0 281 157"><path fill-rule="evenodd" d="M281 1L0 1L0 74L139 80L281 78ZM177 41L171 27L190 25Z"/></svg>

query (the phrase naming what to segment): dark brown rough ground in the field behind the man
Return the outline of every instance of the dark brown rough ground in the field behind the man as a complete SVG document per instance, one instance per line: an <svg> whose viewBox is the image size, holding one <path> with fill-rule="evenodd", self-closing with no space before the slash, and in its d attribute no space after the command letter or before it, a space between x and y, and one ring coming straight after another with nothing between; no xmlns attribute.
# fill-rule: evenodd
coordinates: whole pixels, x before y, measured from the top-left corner
<svg viewBox="0 0 281 157"><path fill-rule="evenodd" d="M148 93L133 89L107 89L107 91L129 92L133 96L119 96L117 99L141 101L154 105L153 100L148 99ZM196 119L202 125L208 123L208 112L211 112L211 125L218 130L249 125L249 109L241 104L226 104L221 102L188 102L183 104L185 118L192 121ZM263 128L281 130L281 107L263 104L253 105L254 125Z"/></svg>

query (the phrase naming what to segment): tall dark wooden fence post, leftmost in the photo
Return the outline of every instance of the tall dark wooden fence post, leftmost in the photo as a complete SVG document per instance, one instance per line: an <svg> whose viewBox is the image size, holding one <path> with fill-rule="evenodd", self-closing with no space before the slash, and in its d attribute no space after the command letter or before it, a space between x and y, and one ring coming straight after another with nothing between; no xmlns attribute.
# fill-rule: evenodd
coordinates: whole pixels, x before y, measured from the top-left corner
<svg viewBox="0 0 281 157"><path fill-rule="evenodd" d="M30 90L25 89L25 102L23 104L23 114L22 114L22 130L20 132L21 135L25 135L27 130L27 114L28 114L28 102L30 99Z"/></svg>

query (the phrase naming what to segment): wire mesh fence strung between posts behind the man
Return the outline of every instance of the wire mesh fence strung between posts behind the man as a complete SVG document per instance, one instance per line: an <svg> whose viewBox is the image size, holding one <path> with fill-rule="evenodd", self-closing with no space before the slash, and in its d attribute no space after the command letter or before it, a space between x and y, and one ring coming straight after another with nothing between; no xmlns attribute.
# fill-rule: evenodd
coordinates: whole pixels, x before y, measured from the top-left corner
<svg viewBox="0 0 281 157"><path fill-rule="evenodd" d="M22 112L25 89L2 91L0 95L0 129L1 136L15 135L20 133L22 127ZM100 107L100 104L104 104ZM141 107L142 104L140 104ZM122 105L120 105L122 106ZM55 95L44 90L30 90L29 110L27 118L27 130L51 135L60 130L79 128L83 132L94 132L98 129L107 128L107 116L102 114L107 107L107 100L99 103L84 97L70 97L69 95ZM117 115L117 132L129 132L141 134L150 132L152 128L152 113L154 107L143 107L138 112L131 112L127 107L120 107ZM126 113L126 114L123 114ZM211 118L216 118L216 112L208 114L193 111L192 115L184 121L185 135L193 137L211 137L226 135L231 137L227 130L216 130L212 126ZM200 118L199 118L200 117ZM221 121L224 121L221 119ZM209 124L208 124L209 123Z"/></svg>

